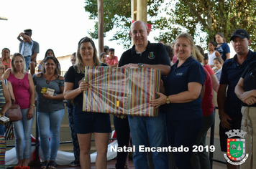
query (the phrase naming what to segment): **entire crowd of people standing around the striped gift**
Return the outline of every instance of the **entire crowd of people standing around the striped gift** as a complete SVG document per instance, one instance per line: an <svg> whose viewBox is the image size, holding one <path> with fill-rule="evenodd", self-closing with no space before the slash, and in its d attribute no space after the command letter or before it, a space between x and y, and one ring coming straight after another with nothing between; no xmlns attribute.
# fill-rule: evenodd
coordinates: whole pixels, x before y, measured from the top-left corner
<svg viewBox="0 0 256 169"><path fill-rule="evenodd" d="M75 160L70 166L91 168L90 150L92 134L96 145L96 168L106 168L106 153L111 123L109 114L83 112L83 94L91 87L86 82L85 67L123 67L161 69L162 80L157 99L150 105L159 108L157 117L114 115L114 127L119 147L134 146L134 168L169 168L168 152L152 152L152 160L140 146L150 148L186 147L187 151L173 152L176 168L208 169L208 152L192 152L193 146L206 146L206 134L215 119L214 91L219 107L219 136L221 151L227 152L229 130L247 132L247 161L239 165L227 163L227 168L255 168L256 137L256 53L249 49L250 35L237 29L230 39L236 54L230 59L230 49L224 35L216 34L216 42L209 42L209 53L194 44L188 33L181 33L170 45L147 40L150 29L144 21L134 21L130 36L132 48L120 60L114 49L104 46L98 56L93 40L83 37L71 55L72 66L65 76L60 75L60 62L52 49L35 74L39 44L32 40L32 30L26 29L17 37L19 53L10 57L8 48L2 49L0 62L1 115L12 100L22 110L22 120L14 122L17 166L27 167L31 150L31 130L37 107L40 148L43 153L41 169L55 169L60 145L60 123L67 100L68 122L73 140ZM29 73L30 70L30 73ZM37 97L35 98L35 93ZM0 125L0 134L4 127ZM50 140L49 140L50 136ZM188 139L189 138L189 139ZM116 169L129 168L127 152L118 152ZM149 166L152 163L153 166Z"/></svg>

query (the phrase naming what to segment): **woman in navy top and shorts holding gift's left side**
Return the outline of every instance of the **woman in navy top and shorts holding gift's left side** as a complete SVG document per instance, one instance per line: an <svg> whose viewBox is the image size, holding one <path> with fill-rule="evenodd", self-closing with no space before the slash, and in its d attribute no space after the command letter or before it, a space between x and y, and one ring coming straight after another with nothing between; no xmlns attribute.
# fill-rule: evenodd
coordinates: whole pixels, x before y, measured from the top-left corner
<svg viewBox="0 0 256 169"><path fill-rule="evenodd" d="M106 168L106 152L111 132L109 114L83 112L83 92L88 90L84 82L85 67L102 65L92 39L85 37L78 42L78 61L68 69L65 76L65 100L73 100L75 131L78 133L81 168L91 168L90 150L93 133L97 151L97 168ZM106 64L104 64L106 66Z"/></svg>

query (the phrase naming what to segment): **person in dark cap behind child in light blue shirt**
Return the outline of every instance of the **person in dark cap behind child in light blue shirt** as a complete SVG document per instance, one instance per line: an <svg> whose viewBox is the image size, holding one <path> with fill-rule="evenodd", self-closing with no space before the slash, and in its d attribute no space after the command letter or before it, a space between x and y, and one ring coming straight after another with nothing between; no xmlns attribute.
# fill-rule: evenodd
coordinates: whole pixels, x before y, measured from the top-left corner
<svg viewBox="0 0 256 169"><path fill-rule="evenodd" d="M31 29L25 29L24 33L29 34L29 37L31 38L32 36L32 30ZM33 46L32 46L32 55L30 56L30 63L29 63L29 69L30 69L30 74L35 74L35 67L37 65L37 54L39 53L39 44L37 42L33 41ZM19 51L22 49L22 43L19 44Z"/></svg>

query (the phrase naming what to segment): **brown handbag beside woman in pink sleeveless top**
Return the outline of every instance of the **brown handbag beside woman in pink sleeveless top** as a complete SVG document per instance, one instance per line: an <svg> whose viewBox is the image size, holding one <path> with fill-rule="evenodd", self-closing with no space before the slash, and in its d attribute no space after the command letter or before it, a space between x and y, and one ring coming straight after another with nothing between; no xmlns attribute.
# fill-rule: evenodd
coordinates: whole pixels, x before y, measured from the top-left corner
<svg viewBox="0 0 256 169"><path fill-rule="evenodd" d="M12 100L12 105L6 113L11 122L22 120L22 110L20 110L19 105L15 105L14 100Z"/></svg>

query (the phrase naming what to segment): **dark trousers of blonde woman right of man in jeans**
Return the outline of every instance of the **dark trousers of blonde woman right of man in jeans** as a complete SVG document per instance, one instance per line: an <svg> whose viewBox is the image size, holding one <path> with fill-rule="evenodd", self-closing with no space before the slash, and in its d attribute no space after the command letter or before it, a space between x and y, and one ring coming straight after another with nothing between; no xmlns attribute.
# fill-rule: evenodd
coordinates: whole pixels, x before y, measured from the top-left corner
<svg viewBox="0 0 256 169"><path fill-rule="evenodd" d="M188 152L174 152L175 165L178 169L192 169L191 156L193 145L201 131L203 117L196 120L167 120L168 142L172 148L189 148ZM173 150L173 149L172 149ZM177 150L178 151L178 150Z"/></svg>

